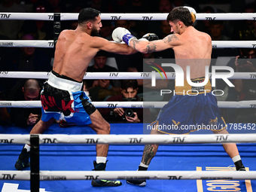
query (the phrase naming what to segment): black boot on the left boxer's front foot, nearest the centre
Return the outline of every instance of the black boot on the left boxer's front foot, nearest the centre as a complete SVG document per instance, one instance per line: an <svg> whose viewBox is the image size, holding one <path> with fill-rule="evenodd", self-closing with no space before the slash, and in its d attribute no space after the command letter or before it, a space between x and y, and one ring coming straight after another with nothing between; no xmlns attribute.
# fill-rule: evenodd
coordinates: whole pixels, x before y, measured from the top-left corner
<svg viewBox="0 0 256 192"><path fill-rule="evenodd" d="M93 171L105 171L106 163L97 163L96 160L93 160ZM110 181L105 179L92 180L93 187L117 187L122 185L120 181Z"/></svg>

